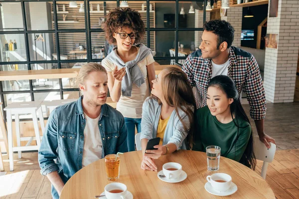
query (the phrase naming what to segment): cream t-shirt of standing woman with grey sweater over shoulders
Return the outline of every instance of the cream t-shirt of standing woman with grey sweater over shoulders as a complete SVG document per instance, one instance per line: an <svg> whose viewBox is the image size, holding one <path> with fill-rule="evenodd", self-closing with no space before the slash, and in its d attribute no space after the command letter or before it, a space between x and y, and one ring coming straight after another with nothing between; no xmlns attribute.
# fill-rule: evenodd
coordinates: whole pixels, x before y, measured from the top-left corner
<svg viewBox="0 0 299 199"><path fill-rule="evenodd" d="M139 51L139 47L137 47ZM120 100L116 104L116 109L120 111L124 117L129 118L141 118L142 117L142 104L149 97L149 81L147 66L152 64L154 59L151 54L141 62L137 63L137 66L141 69L144 77L145 83L138 88L136 84L132 85L132 95L131 97L124 97L121 95ZM108 59L102 60L102 66L105 67L107 72L112 72L116 65Z"/></svg>

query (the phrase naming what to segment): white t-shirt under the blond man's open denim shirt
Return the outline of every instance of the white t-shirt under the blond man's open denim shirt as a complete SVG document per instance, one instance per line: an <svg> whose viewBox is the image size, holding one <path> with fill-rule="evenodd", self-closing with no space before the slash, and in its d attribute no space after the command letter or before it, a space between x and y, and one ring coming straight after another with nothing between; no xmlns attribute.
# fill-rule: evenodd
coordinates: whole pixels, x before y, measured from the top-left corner
<svg viewBox="0 0 299 199"><path fill-rule="evenodd" d="M103 144L98 124L100 115L92 119L84 113L86 125L84 128L83 167L102 158Z"/></svg>

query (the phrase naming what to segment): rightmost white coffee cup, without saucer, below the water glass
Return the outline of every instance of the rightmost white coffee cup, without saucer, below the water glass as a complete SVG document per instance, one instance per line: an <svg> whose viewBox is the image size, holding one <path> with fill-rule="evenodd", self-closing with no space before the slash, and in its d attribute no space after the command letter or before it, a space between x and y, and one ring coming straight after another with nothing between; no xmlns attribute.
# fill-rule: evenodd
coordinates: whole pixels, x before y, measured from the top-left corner
<svg viewBox="0 0 299 199"><path fill-rule="evenodd" d="M228 190L232 183L232 177L224 173L216 173L211 176L207 176L207 181L211 184L214 190L219 192L225 192ZM224 181L224 182L217 182Z"/></svg>

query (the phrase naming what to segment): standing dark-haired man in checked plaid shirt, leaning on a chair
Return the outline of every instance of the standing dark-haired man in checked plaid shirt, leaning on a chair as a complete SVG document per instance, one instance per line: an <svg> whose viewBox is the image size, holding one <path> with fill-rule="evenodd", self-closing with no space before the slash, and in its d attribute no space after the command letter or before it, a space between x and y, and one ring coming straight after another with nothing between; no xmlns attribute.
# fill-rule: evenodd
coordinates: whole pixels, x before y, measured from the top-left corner
<svg viewBox="0 0 299 199"><path fill-rule="evenodd" d="M250 53L231 46L235 30L229 22L211 20L205 22L203 28L200 50L190 54L182 67L191 86L196 87L197 108L206 105L211 78L217 75L231 77L237 85L240 100L242 90L245 90L250 116L255 120L260 140L270 148L269 142L275 143L275 140L264 132L266 98L256 59Z"/></svg>

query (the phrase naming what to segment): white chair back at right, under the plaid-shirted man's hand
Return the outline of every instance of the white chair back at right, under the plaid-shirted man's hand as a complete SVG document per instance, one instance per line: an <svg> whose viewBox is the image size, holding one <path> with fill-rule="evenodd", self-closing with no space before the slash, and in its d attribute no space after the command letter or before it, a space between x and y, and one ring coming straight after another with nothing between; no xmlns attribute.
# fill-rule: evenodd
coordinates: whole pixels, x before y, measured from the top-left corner
<svg viewBox="0 0 299 199"><path fill-rule="evenodd" d="M264 161L261 176L263 179L266 179L268 164L274 159L276 145L270 142L271 148L268 149L266 145L260 141L259 137L254 137L253 145L256 159Z"/></svg>

